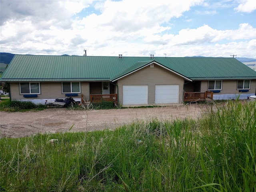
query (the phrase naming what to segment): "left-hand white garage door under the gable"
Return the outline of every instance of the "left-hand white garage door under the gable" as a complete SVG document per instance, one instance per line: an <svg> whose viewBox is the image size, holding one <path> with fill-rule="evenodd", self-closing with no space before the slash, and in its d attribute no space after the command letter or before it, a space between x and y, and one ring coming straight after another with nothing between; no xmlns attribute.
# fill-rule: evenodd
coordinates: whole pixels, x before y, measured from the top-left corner
<svg viewBox="0 0 256 192"><path fill-rule="evenodd" d="M123 105L148 104L147 85L124 85Z"/></svg>

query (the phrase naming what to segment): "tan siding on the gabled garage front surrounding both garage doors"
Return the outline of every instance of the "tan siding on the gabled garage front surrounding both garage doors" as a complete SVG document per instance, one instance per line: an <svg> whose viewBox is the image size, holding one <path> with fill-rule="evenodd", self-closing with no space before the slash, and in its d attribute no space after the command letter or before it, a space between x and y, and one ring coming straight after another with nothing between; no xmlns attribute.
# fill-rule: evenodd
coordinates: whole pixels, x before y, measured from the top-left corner
<svg viewBox="0 0 256 192"><path fill-rule="evenodd" d="M155 103L155 85L179 85L179 103L182 103L184 79L166 69L154 65L147 66L139 71L136 71L124 78L118 80L119 102L122 103L123 85L148 85L148 104Z"/></svg>

